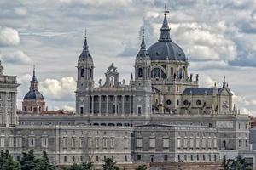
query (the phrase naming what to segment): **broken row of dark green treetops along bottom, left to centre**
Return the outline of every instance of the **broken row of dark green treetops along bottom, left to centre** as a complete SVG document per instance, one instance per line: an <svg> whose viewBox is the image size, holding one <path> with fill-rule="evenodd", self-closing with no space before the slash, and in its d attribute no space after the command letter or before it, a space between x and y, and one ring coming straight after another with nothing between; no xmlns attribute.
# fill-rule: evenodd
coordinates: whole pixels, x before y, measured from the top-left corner
<svg viewBox="0 0 256 170"><path fill-rule="evenodd" d="M74 163L71 167L64 167L63 170L91 170L93 168L92 162L76 164ZM20 161L15 161L13 157L9 154L9 151L1 150L0 154L0 169L1 170L57 170L61 169L56 167L49 162L47 153L43 151L41 158L36 158L33 150L29 152L22 153ZM113 159L107 158L104 160L102 165L103 170L119 170L119 167L116 166L116 161ZM146 170L146 166L139 166L136 170Z"/></svg>

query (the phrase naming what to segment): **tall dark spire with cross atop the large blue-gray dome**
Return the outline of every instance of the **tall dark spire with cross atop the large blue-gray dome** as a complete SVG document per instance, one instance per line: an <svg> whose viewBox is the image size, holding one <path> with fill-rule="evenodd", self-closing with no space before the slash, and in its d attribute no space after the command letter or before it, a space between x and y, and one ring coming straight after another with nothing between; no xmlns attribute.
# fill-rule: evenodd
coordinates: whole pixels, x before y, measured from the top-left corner
<svg viewBox="0 0 256 170"><path fill-rule="evenodd" d="M170 36L170 30L171 29L168 25L168 20L166 18L167 13L169 13L169 11L167 10L167 7L165 5L165 11L164 11L165 17L164 17L163 24L160 27L160 31L161 31L160 39L159 39L160 42L172 42L172 39L171 39L171 36Z"/></svg>

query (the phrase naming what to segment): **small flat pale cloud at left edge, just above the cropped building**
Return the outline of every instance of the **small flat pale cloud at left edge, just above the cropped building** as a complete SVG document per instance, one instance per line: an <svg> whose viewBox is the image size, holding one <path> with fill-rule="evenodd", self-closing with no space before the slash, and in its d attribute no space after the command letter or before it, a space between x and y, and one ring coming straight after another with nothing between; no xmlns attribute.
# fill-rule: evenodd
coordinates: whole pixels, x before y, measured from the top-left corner
<svg viewBox="0 0 256 170"><path fill-rule="evenodd" d="M12 54L2 54L0 55L3 62L19 65L30 65L32 64L32 59L27 56L23 51L15 51Z"/></svg>

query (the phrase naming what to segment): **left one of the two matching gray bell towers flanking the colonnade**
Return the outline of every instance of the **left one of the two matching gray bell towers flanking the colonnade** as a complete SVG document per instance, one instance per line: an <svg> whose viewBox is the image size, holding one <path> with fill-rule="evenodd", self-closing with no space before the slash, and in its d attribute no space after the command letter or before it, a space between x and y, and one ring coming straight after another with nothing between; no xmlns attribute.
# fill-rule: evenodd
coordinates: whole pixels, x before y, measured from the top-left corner
<svg viewBox="0 0 256 170"><path fill-rule="evenodd" d="M76 112L84 115L85 112L89 111L88 108L90 107L88 104L90 99L87 94L90 88L94 87L94 64L87 43L87 30L85 30L83 51L79 56L77 68Z"/></svg>

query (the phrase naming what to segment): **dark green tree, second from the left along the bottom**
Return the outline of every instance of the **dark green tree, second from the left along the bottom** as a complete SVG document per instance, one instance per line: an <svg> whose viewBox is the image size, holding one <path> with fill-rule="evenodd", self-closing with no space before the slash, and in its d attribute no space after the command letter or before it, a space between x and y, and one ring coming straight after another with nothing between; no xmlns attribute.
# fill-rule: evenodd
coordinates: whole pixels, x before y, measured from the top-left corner
<svg viewBox="0 0 256 170"><path fill-rule="evenodd" d="M21 170L34 170L36 167L36 161L33 150L30 150L28 153L23 152L20 161Z"/></svg>

